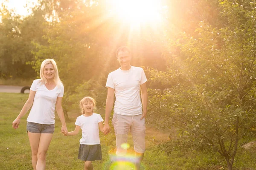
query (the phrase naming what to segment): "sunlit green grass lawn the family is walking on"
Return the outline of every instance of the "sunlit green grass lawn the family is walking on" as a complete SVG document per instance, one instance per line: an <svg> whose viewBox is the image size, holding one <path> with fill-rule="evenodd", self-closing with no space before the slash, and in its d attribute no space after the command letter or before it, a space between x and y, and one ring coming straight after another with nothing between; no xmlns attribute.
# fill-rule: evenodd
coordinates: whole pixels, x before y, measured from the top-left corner
<svg viewBox="0 0 256 170"><path fill-rule="evenodd" d="M26 118L28 113L21 119L17 130L12 128L12 121L16 118L28 94L0 93L0 160L1 170L30 170L31 150L28 136L26 135ZM69 130L75 128L74 122L79 116L79 111L69 113L70 121L67 122ZM102 116L104 116L102 114ZM61 123L58 116L55 118L55 133L47 152L47 170L82 170L83 161L77 159L79 139L77 136L63 136L60 133ZM147 126L146 141L147 149L142 163L142 170L226 170L224 159L218 153L203 152L173 152L167 156L163 152L155 152L156 147L151 142L155 140L166 140L168 134L161 135L161 131ZM166 139L165 139L166 138ZM113 168L110 161L111 153L114 153L115 136L112 132L108 136L100 135L102 146L102 160L94 161L94 170L124 169ZM132 139L129 136L128 143L131 144L129 152L132 152ZM255 170L256 151L240 148L234 163L234 170ZM127 166L128 167L128 166ZM127 170L129 168L126 168Z"/></svg>

